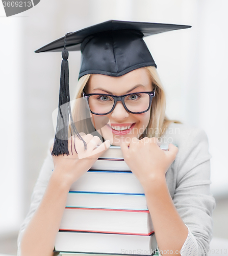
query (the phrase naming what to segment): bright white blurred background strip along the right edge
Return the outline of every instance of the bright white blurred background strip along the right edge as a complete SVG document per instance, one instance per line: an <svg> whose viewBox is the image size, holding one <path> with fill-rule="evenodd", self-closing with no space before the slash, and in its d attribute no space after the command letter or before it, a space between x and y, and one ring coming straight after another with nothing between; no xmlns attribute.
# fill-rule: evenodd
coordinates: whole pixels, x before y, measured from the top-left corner
<svg viewBox="0 0 228 256"><path fill-rule="evenodd" d="M198 124L205 129L212 155L212 191L228 195L228 2L204 0L201 34Z"/></svg>

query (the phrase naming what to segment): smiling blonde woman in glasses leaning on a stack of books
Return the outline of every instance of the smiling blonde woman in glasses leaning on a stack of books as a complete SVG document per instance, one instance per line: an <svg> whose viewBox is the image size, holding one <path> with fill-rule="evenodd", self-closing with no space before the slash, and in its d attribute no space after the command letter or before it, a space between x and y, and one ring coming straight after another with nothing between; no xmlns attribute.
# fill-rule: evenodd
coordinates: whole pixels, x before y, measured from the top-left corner
<svg viewBox="0 0 228 256"><path fill-rule="evenodd" d="M145 51L148 49L144 48L140 34L143 29L140 33L138 30L135 32L136 27L134 31L132 27L124 27L124 31L117 32L105 29L105 34L99 31L83 38L83 61L76 98L84 95L92 120L95 120L94 125L98 117L108 118L109 121L100 128L105 142L102 143L97 136L81 133L81 137L68 143L69 155L53 153L52 157L47 157L34 188L30 212L21 226L18 238L21 256L53 255L69 188L110 146L110 141L121 146L125 162L144 189L161 254L206 254L212 238L211 215L214 208L214 199L209 191L207 136L199 129L165 118L164 91L153 58L147 59L148 52ZM136 45L132 46L133 42ZM115 73L111 57L107 57L107 49L114 49L116 45ZM99 55L94 46L102 49ZM136 49L140 49L139 53L135 53ZM119 54L121 50L124 58L122 53ZM135 63L143 53L143 61ZM95 54L92 60L91 54ZM130 61L132 54L138 54L134 55L133 62ZM99 65L104 59L106 63L102 68L91 68L93 61ZM125 61L128 67L122 67L123 59L128 60ZM120 69L116 68L118 65ZM110 66L107 69L111 71L104 71L104 66ZM77 121L80 114L77 103L74 120ZM84 123L84 131L88 132L87 128ZM83 140L87 144L86 151ZM172 142L178 147L169 144L169 150L163 151L159 142Z"/></svg>

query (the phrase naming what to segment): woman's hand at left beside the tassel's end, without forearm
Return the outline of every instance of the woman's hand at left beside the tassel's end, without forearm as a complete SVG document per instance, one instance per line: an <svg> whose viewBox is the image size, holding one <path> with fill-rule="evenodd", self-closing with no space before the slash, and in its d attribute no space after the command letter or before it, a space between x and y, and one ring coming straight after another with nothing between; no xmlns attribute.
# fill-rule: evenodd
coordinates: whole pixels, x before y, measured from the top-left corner
<svg viewBox="0 0 228 256"><path fill-rule="evenodd" d="M68 186L71 186L73 182L86 173L98 157L110 147L109 140L102 143L97 136L84 133L80 133L80 135L87 143L86 151L83 141L78 139L77 136L72 136L71 140L68 140L69 155L52 156L55 166L53 175L64 181ZM75 152L74 146L78 154ZM50 147L50 152L52 152L52 149L53 145Z"/></svg>

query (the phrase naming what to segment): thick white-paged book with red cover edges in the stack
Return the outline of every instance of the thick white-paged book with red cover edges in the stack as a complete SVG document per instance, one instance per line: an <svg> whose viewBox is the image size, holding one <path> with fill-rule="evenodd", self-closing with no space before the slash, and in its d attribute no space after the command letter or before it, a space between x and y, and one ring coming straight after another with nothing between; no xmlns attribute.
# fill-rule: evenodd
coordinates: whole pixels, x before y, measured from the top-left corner
<svg viewBox="0 0 228 256"><path fill-rule="evenodd" d="M65 208L60 230L146 235L154 232L149 211Z"/></svg>

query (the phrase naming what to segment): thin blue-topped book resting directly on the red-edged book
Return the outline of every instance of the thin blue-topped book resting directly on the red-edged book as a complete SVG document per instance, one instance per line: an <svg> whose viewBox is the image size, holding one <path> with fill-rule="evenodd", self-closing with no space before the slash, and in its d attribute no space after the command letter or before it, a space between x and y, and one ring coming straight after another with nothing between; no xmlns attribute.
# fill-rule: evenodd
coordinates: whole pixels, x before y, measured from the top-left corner
<svg viewBox="0 0 228 256"><path fill-rule="evenodd" d="M66 207L148 210L145 195L69 191Z"/></svg>

